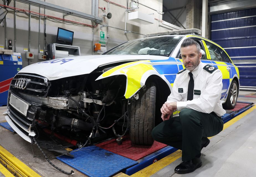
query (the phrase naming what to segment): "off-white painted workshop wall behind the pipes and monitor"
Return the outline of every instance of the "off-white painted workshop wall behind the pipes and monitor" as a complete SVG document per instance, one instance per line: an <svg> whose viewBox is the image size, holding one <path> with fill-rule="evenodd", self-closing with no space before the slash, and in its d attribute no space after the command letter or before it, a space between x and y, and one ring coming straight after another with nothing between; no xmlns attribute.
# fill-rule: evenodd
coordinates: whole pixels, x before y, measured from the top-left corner
<svg viewBox="0 0 256 177"><path fill-rule="evenodd" d="M126 6L127 1L126 0L111 0L112 2L115 2L117 4L120 4L122 6ZM83 13L91 14L91 0L45 0L45 2L55 4L58 6L66 7L68 9L73 9L76 11L80 11ZM60 3L61 2L61 3ZM128 0L130 4L130 0ZM153 9L156 9L158 11L162 12L162 0L140 0L139 3L145 4L146 6L149 6ZM3 1L0 1L0 4L3 4ZM11 1L11 4L9 5L11 7L14 7L14 0ZM99 7L108 7L108 3L104 0L99 0ZM24 4L21 2L16 2L16 7L19 9L25 9L29 10L29 5ZM7 40L12 40L12 45L14 48L14 11L11 9L8 9L9 12L7 14ZM39 13L39 7L31 6L31 11L38 12ZM145 6L142 6L139 4L138 11L143 12L145 14L153 14L154 18L162 20L162 15L158 14L156 11L149 9ZM101 9L99 9L98 16L102 17L103 13L112 13L112 18L107 19L105 18L105 21L102 22L102 24L109 24L114 27L125 29L125 9L119 6L116 6L114 4L109 4L109 10L107 9L106 12L103 12ZM40 13L44 13L44 9L41 8ZM45 10L45 14L63 18L63 14L51 10ZM39 61L37 54L39 53L38 48L38 38L39 38L39 17L35 15L31 15L31 44L30 44L30 51L35 53L35 58L31 60L31 64L37 63ZM65 19L73 20L76 22L86 23L89 25L92 25L93 23L90 20L74 17L71 15L68 15L65 17ZM127 15L128 19L128 15ZM17 31L17 40L16 40L16 52L22 53L22 60L23 60L23 67L28 65L28 59L25 58L25 52L23 51L24 48L29 47L28 43L28 28L29 28L29 15L23 14L23 13L17 13L16 16L17 24L16 24L16 31ZM40 29L40 49L43 50L43 18L41 18L41 29ZM161 24L161 22L160 22ZM3 24L0 24L0 46L5 46L5 32ZM66 22L57 23L55 20L47 19L46 20L46 41L47 43L54 43L56 40L57 35L57 29L58 27L65 28L71 31L74 31L74 39L73 39L73 45L74 46L80 46L81 54L82 55L88 55L88 54L97 54L92 52L93 44L98 43L99 41L99 35L100 31L105 32L105 40L107 39L106 36L109 35L108 39L108 49L119 45L123 42L133 40L136 38L142 38L143 35L135 34L135 33L124 33L123 30L111 28L111 27L103 27L100 29L100 25L98 27L94 28L94 41L93 39L93 28L91 27L85 27L85 26L78 26L74 24L68 24ZM142 25L140 23L136 22L130 22L127 20L127 30L128 31L134 31L137 33L147 34L147 33L153 33L153 32L163 32L167 31L163 27L159 27L159 22L155 20L154 24L150 25Z"/></svg>

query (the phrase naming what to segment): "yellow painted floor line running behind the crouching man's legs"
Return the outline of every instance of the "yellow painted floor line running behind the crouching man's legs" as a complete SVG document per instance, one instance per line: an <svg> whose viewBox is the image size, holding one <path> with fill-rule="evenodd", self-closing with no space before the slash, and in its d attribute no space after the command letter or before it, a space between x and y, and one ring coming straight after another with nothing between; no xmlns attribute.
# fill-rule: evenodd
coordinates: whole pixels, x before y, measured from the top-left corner
<svg viewBox="0 0 256 177"><path fill-rule="evenodd" d="M245 111L244 113L231 119L230 121L228 121L227 123L224 124L223 130L225 130L226 128L228 128L229 126L234 124L235 122L239 121L240 119L242 119L244 116L246 116L247 114L249 114L250 112L252 112L255 109L256 109L256 105L253 106L252 108L250 108L249 110ZM212 137L209 137L209 139L211 139L211 138ZM170 155L166 156L165 158L162 158L161 160L157 161L156 163L153 163L153 164L147 166L146 168L138 171L137 173L134 173L131 176L132 177L151 176L151 175L155 174L157 171L160 171L165 166L170 165L170 163L174 162L175 160L177 160L180 157L181 157L181 150L177 150L176 152L171 153ZM126 174L124 174L124 173L117 174L115 177L125 177L124 175L126 175ZM128 176L128 175L126 175L126 176Z"/></svg>

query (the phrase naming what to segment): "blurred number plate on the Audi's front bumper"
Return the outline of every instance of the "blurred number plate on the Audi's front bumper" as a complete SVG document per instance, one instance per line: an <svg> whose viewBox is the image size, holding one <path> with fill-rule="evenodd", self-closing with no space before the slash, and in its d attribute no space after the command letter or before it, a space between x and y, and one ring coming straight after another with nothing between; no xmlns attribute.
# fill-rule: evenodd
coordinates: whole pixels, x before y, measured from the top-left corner
<svg viewBox="0 0 256 177"><path fill-rule="evenodd" d="M29 108L28 103L11 94L9 104L12 105L12 107L14 107L21 114L27 116L27 110Z"/></svg>

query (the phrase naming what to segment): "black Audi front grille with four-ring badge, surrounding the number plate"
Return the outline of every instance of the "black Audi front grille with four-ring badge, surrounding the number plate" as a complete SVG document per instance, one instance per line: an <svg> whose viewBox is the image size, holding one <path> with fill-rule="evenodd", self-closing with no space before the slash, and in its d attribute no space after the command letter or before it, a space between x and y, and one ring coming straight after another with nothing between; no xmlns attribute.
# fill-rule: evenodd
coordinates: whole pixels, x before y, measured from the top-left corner
<svg viewBox="0 0 256 177"><path fill-rule="evenodd" d="M30 131L37 109L30 103L26 103L25 99L19 93L47 97L50 85L46 77L23 73L17 74L11 81L7 103L8 114L12 121L23 129ZM17 101L15 101L16 99ZM17 105L15 105L15 102ZM19 104L22 103L28 106L25 113L19 110Z"/></svg>

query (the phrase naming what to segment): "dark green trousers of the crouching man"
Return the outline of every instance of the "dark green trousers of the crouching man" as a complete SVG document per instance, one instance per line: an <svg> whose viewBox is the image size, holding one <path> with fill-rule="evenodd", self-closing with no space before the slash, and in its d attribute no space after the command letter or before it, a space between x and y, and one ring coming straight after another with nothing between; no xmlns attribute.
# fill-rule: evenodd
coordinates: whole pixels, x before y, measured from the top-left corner
<svg viewBox="0 0 256 177"><path fill-rule="evenodd" d="M201 153L202 137L211 137L223 129L223 121L214 112L207 114L185 108L180 115L163 121L152 130L154 140L182 150L182 161Z"/></svg>

